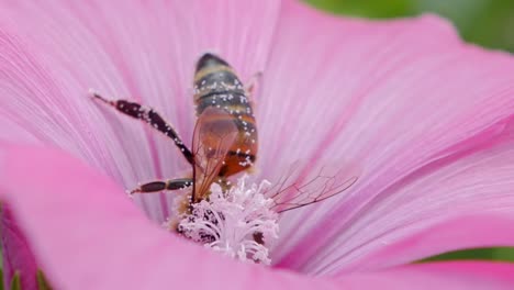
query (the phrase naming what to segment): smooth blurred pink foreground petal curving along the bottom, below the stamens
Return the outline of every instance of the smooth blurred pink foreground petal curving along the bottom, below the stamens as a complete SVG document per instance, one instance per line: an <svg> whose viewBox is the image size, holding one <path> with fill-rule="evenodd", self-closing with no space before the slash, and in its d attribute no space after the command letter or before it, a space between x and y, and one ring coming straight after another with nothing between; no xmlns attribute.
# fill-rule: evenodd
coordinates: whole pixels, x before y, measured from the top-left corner
<svg viewBox="0 0 514 290"><path fill-rule="evenodd" d="M166 233L114 182L76 159L44 148L2 145L1 152L0 196L58 289L474 290L514 285L514 266L501 264L415 265L333 279L236 263Z"/></svg>

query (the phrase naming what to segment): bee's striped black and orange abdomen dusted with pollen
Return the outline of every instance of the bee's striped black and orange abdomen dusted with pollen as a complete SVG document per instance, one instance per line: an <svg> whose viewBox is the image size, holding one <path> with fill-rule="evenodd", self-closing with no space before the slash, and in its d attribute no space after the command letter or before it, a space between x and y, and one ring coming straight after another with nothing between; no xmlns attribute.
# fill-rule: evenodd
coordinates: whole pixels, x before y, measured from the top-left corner
<svg viewBox="0 0 514 290"><path fill-rule="evenodd" d="M197 115L206 108L220 108L230 114L220 114L212 122L231 119L237 126L238 135L227 153L220 176L226 177L248 169L257 156L257 127L243 83L225 60L212 54L204 54L198 60L194 103Z"/></svg>

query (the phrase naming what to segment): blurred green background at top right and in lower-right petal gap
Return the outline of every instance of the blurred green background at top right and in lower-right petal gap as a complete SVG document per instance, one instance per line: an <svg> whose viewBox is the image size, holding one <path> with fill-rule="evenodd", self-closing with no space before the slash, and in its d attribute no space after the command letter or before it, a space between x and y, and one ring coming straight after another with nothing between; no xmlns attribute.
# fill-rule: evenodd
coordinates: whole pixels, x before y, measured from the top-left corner
<svg viewBox="0 0 514 290"><path fill-rule="evenodd" d="M468 42L514 52L514 0L308 0L331 13L387 19L436 13L450 20ZM487 259L514 263L514 248L480 248L426 260Z"/></svg>

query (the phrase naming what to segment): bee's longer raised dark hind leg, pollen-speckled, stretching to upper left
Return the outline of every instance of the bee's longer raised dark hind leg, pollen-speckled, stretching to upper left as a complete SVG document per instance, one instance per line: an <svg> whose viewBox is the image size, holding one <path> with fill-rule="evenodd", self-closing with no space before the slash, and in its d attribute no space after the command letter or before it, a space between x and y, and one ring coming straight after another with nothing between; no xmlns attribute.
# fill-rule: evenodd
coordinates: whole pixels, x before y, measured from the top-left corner
<svg viewBox="0 0 514 290"><path fill-rule="evenodd" d="M175 131L175 129L168 122L166 122L166 120L164 120L156 111L154 111L154 109L126 100L107 100L94 91L90 91L90 93L94 100L102 101L103 103L115 108L118 111L126 115L143 120L150 124L152 127L170 137L175 142L175 145L177 145L177 147L180 149L183 157L186 157L188 163L194 164L194 158L191 150L183 144L182 140L177 134L177 131Z"/></svg>

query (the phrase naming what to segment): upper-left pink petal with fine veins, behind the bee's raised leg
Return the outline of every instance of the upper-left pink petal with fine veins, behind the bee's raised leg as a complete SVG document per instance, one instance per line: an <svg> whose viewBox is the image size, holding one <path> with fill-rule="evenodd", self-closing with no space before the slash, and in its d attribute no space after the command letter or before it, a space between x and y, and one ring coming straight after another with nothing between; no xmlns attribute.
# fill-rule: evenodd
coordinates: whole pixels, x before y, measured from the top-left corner
<svg viewBox="0 0 514 290"><path fill-rule="evenodd" d="M88 90L155 107L189 143L197 57L215 51L249 78L266 63L279 7L273 0L3 3L0 115L11 122L0 132L27 132L126 188L178 177L189 166L169 140L100 108ZM142 198L155 220L170 205L163 198Z"/></svg>

